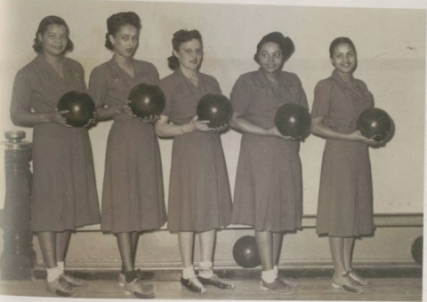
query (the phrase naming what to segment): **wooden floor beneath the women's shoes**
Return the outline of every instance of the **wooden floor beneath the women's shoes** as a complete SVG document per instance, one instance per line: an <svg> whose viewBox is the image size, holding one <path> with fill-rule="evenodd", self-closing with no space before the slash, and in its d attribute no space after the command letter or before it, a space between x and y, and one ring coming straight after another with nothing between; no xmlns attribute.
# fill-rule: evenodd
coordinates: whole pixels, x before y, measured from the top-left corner
<svg viewBox="0 0 427 302"><path fill-rule="evenodd" d="M421 301L422 278L372 279L372 287L361 295L342 293L331 286L329 278L302 278L296 294L283 296L261 290L259 280L232 280L234 290L207 287L205 294L195 294L176 280L153 281L157 299L221 299L221 300L363 300L363 301ZM132 299L120 288L115 279L88 280L88 286L78 290L77 298ZM45 290L44 280L2 281L0 294L10 296L54 297ZM6 300L12 297L0 297ZM19 300L19 298L16 298ZM37 299L38 300L38 299ZM56 300L56 299L55 299ZM63 298L60 298L63 300ZM15 301L14 298L7 301ZM52 301L52 300L51 300Z"/></svg>

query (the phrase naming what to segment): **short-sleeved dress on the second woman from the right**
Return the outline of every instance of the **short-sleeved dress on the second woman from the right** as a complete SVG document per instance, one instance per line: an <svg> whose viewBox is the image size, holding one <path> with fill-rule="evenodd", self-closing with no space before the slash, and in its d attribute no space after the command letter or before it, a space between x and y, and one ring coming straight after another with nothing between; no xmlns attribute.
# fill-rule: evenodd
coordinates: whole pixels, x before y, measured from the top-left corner
<svg viewBox="0 0 427 302"><path fill-rule="evenodd" d="M233 110L264 129L275 126L278 107L297 103L308 108L298 76L280 71L279 86L261 69L238 78L231 91ZM233 224L257 231L301 228L302 168L300 143L243 133L233 203Z"/></svg>

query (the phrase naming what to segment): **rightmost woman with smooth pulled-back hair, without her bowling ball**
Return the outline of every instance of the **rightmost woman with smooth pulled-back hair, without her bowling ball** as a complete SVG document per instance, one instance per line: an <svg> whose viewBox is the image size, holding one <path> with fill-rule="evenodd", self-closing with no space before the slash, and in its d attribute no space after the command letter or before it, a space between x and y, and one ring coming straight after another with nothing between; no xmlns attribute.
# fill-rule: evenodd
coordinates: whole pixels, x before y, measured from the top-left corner
<svg viewBox="0 0 427 302"><path fill-rule="evenodd" d="M369 282L353 271L354 239L372 234L371 168L366 139L356 128L360 113L374 107L367 85L353 77L357 53L348 37L329 47L334 72L318 82L311 112L311 132L326 139L318 194L318 234L329 236L334 261L333 286L362 293Z"/></svg>

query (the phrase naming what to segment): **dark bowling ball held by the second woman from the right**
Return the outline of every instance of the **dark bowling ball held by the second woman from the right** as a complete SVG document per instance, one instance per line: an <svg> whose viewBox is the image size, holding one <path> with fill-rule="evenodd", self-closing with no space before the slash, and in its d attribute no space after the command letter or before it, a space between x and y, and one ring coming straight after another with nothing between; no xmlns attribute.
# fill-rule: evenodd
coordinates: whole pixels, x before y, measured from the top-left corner
<svg viewBox="0 0 427 302"><path fill-rule="evenodd" d="M303 139L310 133L311 116L306 107L300 104L287 103L278 108L274 123L283 136Z"/></svg>

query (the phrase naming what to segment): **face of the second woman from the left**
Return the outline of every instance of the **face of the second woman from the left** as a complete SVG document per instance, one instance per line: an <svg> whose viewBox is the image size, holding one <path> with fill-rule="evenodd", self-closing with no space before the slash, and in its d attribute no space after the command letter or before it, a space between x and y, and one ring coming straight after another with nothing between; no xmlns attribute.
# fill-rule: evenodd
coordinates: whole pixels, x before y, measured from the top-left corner
<svg viewBox="0 0 427 302"><path fill-rule="evenodd" d="M109 36L113 44L113 51L125 58L132 58L138 48L140 31L133 25L126 24L120 27L114 36Z"/></svg>

